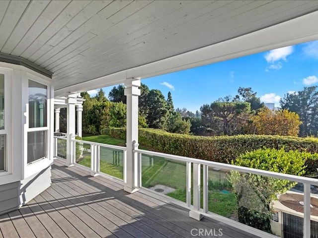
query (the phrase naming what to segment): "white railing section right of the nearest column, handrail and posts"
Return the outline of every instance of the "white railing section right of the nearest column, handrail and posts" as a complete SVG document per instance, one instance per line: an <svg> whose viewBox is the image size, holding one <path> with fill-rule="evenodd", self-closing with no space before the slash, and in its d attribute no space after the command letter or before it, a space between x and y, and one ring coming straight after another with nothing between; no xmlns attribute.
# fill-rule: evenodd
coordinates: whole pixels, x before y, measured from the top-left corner
<svg viewBox="0 0 318 238"><path fill-rule="evenodd" d="M209 167L222 169L226 171L237 171L240 173L253 174L259 176L266 176L275 179L289 180L293 182L299 182L304 184L304 230L303 237L309 238L311 235L311 185L318 186L318 179L300 177L294 175L287 175L281 173L275 173L270 171L246 168L241 166L235 166L230 164L223 164L218 162L193 159L183 156L169 155L159 152L147 151L147 150L134 150L138 153L139 163L142 163L142 155L148 155L152 157L161 157L164 159L169 159L178 162L186 163L186 204L191 209L190 216L196 219L200 219L202 215L212 214L209 209L209 199L208 199L208 174ZM201 166L203 170L203 184L201 185ZM193 175L191 175L191 168L193 170ZM193 181L193 188L191 189L191 178ZM142 176L139 177L139 184L142 184ZM201 191L203 189L203 209L201 209ZM193 190L193 205L191 205L191 190ZM191 214L192 212L192 214Z"/></svg>

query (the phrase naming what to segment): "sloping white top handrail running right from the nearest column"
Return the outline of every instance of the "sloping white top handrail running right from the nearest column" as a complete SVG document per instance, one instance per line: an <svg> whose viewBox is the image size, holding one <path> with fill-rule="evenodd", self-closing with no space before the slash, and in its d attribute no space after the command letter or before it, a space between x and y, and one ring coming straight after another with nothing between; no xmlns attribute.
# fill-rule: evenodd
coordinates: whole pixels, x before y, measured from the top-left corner
<svg viewBox="0 0 318 238"><path fill-rule="evenodd" d="M191 162L191 163L195 163L195 164L206 165L206 166L210 166L210 167L214 167L214 168L218 168L218 169L234 170L234 171L238 171L238 172L242 172L242 173L267 176L267 177L272 177L275 179L286 179L286 180L290 180L290 181L302 182L302 183L307 183L307 184L312 184L312 185L318 186L318 179L313 179L313 178L301 177L301 176L296 176L296 175L281 174L281 173L271 172L271 171L266 171L266 170L252 169L252 168L247 168L247 167L243 167L243 166L230 165L230 164L224 164L224 163L201 160L201 159L193 159L193 158L189 158L189 157L170 155L170 154L159 153L159 152L148 151L148 150L138 149L138 150L134 150L134 152L142 153L142 154L146 154L146 155L151 155L151 156L163 157L166 159L172 159L172 160L177 160L177 161L181 161L181 162Z"/></svg>

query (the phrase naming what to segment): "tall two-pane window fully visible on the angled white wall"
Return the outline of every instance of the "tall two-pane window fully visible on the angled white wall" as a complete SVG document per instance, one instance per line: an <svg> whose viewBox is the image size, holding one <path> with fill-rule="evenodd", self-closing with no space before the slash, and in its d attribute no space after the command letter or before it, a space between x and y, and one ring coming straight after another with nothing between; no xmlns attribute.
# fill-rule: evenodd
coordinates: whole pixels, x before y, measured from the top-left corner
<svg viewBox="0 0 318 238"><path fill-rule="evenodd" d="M46 85L29 80L28 164L47 157L47 91Z"/></svg>

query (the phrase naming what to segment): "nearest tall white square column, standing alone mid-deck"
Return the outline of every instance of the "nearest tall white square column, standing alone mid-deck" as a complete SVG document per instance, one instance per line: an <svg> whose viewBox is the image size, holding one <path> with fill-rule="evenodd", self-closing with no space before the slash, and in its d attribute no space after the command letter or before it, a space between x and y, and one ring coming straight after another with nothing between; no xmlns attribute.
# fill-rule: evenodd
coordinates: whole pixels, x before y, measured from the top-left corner
<svg viewBox="0 0 318 238"><path fill-rule="evenodd" d="M125 95L127 96L127 158L125 168L124 190L133 193L139 185L139 160L134 149L138 149L138 96L140 96L140 78L125 80Z"/></svg>

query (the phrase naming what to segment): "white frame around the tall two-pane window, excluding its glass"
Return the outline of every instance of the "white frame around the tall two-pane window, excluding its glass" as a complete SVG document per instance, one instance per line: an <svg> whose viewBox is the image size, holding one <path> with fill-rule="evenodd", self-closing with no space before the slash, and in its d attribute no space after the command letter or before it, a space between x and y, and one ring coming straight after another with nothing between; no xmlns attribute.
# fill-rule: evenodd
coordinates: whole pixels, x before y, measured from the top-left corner
<svg viewBox="0 0 318 238"><path fill-rule="evenodd" d="M32 74L29 74L27 73L27 90L28 90L28 93L27 95L29 96L29 80L31 81L34 81L34 82L37 82L37 83L40 83L40 84L43 84L47 87L47 121L46 121L46 126L43 126L43 127L33 127L33 128L29 128L29 104L27 102L27 120L26 120L26 124L27 124L27 130L26 130L26 140L27 140L27 134L28 132L35 132L35 131L46 131L46 157L44 158L40 158L38 160L35 160L35 161L32 161L30 163L27 163L27 158L26 158L26 165L27 167L31 167L32 165L36 165L38 162L40 161L43 161L43 160L46 160L46 159L49 159L50 157L50 110L51 110L51 105L50 105L50 98L51 98L51 83L42 79L42 78L39 78L39 77L36 77ZM26 144L27 144L27 141L26 141ZM27 150L28 148L26 148ZM33 166L32 166L33 167Z"/></svg>

